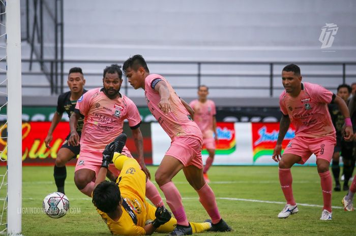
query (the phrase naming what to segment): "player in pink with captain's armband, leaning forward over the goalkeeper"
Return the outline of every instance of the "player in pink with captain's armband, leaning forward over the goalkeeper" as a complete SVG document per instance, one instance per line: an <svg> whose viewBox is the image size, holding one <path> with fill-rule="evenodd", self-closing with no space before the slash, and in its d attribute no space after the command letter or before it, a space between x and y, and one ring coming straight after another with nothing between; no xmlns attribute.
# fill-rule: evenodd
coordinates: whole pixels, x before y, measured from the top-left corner
<svg viewBox="0 0 356 236"><path fill-rule="evenodd" d="M141 55L127 59L123 71L134 89L144 89L147 106L172 140L155 175L156 182L177 220L176 227L169 235L192 234L181 194L172 182L172 178L182 169L189 184L197 191L200 203L212 219L210 231L230 231L231 228L220 217L213 190L203 178L202 133L191 118L193 113L191 107L174 92L164 77L150 74Z"/></svg>

